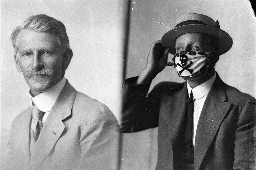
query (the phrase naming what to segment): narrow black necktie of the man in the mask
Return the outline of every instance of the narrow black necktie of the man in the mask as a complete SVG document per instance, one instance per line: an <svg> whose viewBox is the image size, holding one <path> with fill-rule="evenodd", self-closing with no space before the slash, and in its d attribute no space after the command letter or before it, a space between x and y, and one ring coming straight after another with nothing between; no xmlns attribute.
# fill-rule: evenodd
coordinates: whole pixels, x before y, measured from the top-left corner
<svg viewBox="0 0 256 170"><path fill-rule="evenodd" d="M192 143L192 130L193 130L193 113L194 113L194 100L191 90L190 97L187 103L187 125L185 131L185 145L186 145L186 157L188 163L194 163L194 146Z"/></svg>

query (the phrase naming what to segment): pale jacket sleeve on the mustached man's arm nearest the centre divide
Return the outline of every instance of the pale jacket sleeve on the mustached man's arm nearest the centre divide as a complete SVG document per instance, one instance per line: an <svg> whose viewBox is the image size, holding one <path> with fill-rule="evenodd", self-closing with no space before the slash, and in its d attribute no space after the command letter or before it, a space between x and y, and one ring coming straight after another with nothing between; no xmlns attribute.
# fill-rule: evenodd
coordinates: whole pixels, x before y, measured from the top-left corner
<svg viewBox="0 0 256 170"><path fill-rule="evenodd" d="M80 127L78 169L116 169L119 125L114 114L101 104L89 117L81 118Z"/></svg>

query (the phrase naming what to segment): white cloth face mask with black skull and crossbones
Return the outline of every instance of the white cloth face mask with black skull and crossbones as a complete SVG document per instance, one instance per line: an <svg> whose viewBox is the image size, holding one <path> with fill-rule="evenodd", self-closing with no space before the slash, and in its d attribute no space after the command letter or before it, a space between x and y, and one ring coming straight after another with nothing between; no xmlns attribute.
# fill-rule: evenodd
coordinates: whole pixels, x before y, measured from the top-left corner
<svg viewBox="0 0 256 170"><path fill-rule="evenodd" d="M188 78L200 74L209 64L215 64L218 59L218 52L181 51L174 55L173 62L179 77Z"/></svg>

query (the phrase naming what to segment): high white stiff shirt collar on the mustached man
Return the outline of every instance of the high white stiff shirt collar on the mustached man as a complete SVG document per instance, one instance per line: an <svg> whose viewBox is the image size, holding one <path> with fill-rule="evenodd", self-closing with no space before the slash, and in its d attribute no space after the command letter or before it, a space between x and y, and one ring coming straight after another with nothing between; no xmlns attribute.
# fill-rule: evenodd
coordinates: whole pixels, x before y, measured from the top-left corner
<svg viewBox="0 0 256 170"><path fill-rule="evenodd" d="M31 107L33 107L33 103L37 105L37 108L43 112L49 112L53 107L53 104L57 100L61 90L63 89L66 78L63 77L56 85L54 85L49 90L46 90L35 97L32 97L29 93Z"/></svg>

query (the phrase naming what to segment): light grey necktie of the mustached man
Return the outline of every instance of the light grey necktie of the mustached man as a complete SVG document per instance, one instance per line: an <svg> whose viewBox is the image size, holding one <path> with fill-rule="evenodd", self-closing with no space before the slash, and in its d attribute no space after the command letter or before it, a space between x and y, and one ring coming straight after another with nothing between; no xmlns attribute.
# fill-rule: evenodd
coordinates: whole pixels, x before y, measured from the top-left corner
<svg viewBox="0 0 256 170"><path fill-rule="evenodd" d="M37 138L39 136L39 133L43 127L42 124L42 116L44 112L40 111L37 108L37 105L34 105L32 108L32 121L31 121L31 127L30 127L30 153L32 153L35 143L37 141Z"/></svg>

